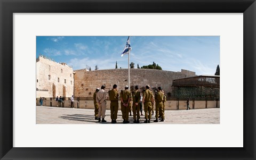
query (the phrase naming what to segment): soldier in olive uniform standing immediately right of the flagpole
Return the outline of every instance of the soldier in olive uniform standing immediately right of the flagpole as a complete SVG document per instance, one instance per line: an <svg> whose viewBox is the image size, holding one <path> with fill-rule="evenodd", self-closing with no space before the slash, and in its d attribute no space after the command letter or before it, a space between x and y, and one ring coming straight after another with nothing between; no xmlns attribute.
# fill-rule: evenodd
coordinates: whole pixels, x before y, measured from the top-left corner
<svg viewBox="0 0 256 160"><path fill-rule="evenodd" d="M140 123L140 91L139 86L135 86L135 91L132 91L132 112L133 112L133 123ZM137 120L136 120L137 115Z"/></svg>

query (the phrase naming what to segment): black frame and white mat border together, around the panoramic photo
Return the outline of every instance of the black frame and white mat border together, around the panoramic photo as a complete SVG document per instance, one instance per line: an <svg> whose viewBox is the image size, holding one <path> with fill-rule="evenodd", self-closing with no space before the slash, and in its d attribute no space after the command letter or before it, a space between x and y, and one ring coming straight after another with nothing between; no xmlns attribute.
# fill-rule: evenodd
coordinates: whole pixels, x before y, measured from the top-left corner
<svg viewBox="0 0 256 160"><path fill-rule="evenodd" d="M0 1L1 159L255 159L255 1ZM167 23L177 28L169 31ZM212 23L214 27L207 28ZM109 32L111 28L127 33ZM235 43L219 35L220 29L223 35L229 32L230 42ZM220 123L144 125L143 129L122 124L117 129L111 124L36 125L35 39L54 34L222 36L220 83L229 84L230 90L220 91Z"/></svg>

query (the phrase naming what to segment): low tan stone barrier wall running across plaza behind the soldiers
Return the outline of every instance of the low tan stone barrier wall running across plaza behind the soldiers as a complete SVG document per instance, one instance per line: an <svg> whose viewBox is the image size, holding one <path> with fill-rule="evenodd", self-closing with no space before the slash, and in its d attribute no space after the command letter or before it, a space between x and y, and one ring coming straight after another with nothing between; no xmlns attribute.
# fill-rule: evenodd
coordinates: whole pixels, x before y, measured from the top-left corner
<svg viewBox="0 0 256 160"><path fill-rule="evenodd" d="M70 108L71 101L64 100L64 107ZM119 110L121 110L120 101L118 101ZM132 102L131 102L132 104ZM36 105L39 106L39 98L36 99ZM57 102L55 100L51 100L50 98L46 98L43 100L43 106L52 106L57 107ZM191 109L202 109L202 108L219 108L220 102L213 100L190 100L189 107ZM85 109L94 109L93 100L74 100L74 108L85 108ZM143 108L143 106L142 106ZM154 106L154 110L155 110ZM186 100L167 100L165 103L165 110L186 110L187 109L187 101ZM107 100L107 110L110 110L110 101ZM144 108L143 108L144 110Z"/></svg>

